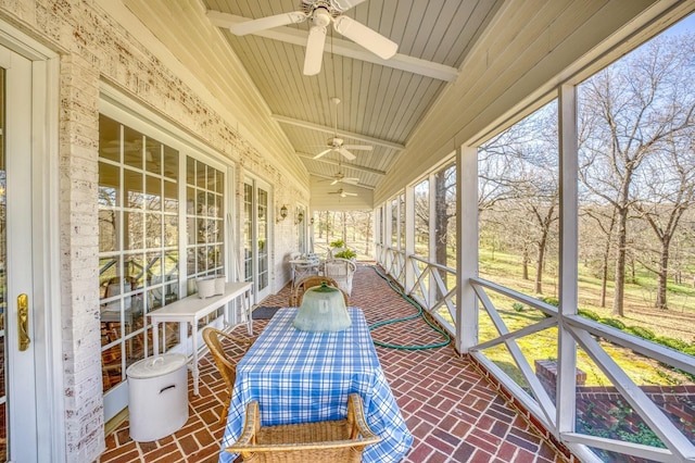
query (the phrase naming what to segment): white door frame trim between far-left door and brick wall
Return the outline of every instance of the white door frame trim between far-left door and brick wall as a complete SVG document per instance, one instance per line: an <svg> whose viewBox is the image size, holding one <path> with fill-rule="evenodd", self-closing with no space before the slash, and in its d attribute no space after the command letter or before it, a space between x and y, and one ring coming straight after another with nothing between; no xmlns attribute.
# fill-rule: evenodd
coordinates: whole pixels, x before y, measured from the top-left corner
<svg viewBox="0 0 695 463"><path fill-rule="evenodd" d="M65 461L65 398L60 280L59 72L49 48L0 21L0 45L33 61L34 308L38 460Z"/></svg>

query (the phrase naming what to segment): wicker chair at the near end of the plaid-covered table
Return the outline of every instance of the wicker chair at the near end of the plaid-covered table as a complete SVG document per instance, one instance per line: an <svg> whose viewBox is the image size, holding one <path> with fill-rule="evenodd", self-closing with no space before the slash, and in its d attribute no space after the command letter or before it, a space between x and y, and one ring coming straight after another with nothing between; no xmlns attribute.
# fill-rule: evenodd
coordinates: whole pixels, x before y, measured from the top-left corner
<svg viewBox="0 0 695 463"><path fill-rule="evenodd" d="M249 402L241 437L225 451L240 453L244 463L358 463L365 447L380 440L367 425L362 399L351 393L344 420L265 427L258 402Z"/></svg>

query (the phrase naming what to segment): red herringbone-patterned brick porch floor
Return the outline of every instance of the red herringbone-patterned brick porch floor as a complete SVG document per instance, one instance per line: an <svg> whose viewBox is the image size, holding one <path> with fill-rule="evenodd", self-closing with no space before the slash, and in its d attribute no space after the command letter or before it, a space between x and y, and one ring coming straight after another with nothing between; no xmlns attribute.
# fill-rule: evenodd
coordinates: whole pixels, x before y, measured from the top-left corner
<svg viewBox="0 0 695 463"><path fill-rule="evenodd" d="M260 305L287 305L289 292L286 287ZM362 308L370 325L417 313L367 264L358 265L350 304ZM254 321L254 335L266 324ZM236 334L244 333L236 329ZM421 317L377 328L372 338L405 346L442 341ZM377 346L377 353L415 438L404 462L567 461L452 347L396 350ZM154 442L134 442L125 422L106 437L106 450L99 462L217 461L224 433L218 420L226 391L210 355L200 366L201 395L192 395L189 378L190 417L180 430Z"/></svg>

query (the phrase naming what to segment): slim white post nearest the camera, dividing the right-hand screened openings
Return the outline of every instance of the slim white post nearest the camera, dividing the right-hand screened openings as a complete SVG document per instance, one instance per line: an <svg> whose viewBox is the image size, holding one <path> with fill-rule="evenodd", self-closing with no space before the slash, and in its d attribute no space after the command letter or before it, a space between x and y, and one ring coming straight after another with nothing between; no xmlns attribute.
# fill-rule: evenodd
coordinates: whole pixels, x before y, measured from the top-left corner
<svg viewBox="0 0 695 463"><path fill-rule="evenodd" d="M559 317L556 418L559 433L574 430L577 345L565 328L565 316L577 314L578 285L578 187L577 187L577 88L559 88L560 249Z"/></svg>

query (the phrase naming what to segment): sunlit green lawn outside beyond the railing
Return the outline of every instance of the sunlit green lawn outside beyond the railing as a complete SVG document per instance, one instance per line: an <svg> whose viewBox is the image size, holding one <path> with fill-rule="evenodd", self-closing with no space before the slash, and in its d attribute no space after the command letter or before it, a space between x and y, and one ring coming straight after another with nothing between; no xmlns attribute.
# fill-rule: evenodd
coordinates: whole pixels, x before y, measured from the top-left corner
<svg viewBox="0 0 695 463"><path fill-rule="evenodd" d="M521 265L517 256L495 251L493 258L491 252L481 250L479 266L482 278L490 279L526 295L534 295L533 281L521 278ZM533 270L530 268L530 272L532 271ZM594 311L601 316L615 317L610 314L610 306L598 306L601 280L593 277L586 268L580 268L579 273L580 308ZM556 279L554 275L546 276L544 295L535 296L556 297ZM693 340L695 340L695 329L693 329L692 322L685 322L685 320L692 320L692 316L695 315L695 289L685 285L677 286L674 288L675 290L669 288L669 304L678 309L661 311L650 306L653 299L649 299L649 291L652 291L652 293L654 292L654 288L648 286L650 281L653 280L647 279L646 275L639 275L637 284L630 284L626 287L626 316L620 320L628 326L647 327L656 331L658 336L669 336L686 342L693 342ZM544 317L542 313L528 306L518 312L514 309L515 301L495 295L492 291L489 291L488 295L508 329L511 331L535 323ZM610 304L611 296L611 288L609 288L607 305ZM484 310L481 309L480 340L484 341L496 336L496 329ZM526 336L518 340L518 345L531 364L533 360L556 359L557 328L551 328L539 334ZM671 368L665 367L652 359L635 354L629 349L605 341L602 341L602 347L637 385L678 385L693 383L693 379L688 376L673 372ZM506 348L491 349L485 353L491 360L497 362L503 370L509 373L515 380L521 385L525 384ZM577 366L586 373L587 385L610 385L608 378L582 350L578 352Z"/></svg>

